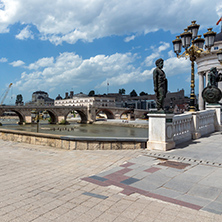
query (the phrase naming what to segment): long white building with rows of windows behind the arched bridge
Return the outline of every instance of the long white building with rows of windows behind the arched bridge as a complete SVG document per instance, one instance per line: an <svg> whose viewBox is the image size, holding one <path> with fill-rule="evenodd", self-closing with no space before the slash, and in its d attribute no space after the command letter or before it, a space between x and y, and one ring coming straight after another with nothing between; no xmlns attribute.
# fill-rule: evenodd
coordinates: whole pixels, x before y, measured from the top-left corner
<svg viewBox="0 0 222 222"><path fill-rule="evenodd" d="M62 99L58 96L54 102L55 106L95 106L95 107L115 107L115 98L87 96L86 94L79 93L68 98Z"/></svg>

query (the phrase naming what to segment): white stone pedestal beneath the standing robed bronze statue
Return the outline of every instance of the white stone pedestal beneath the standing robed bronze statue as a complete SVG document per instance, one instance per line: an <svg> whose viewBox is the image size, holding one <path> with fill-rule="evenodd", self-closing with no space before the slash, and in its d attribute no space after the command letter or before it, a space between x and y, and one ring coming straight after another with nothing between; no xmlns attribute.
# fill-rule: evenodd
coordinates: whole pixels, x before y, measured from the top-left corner
<svg viewBox="0 0 222 222"><path fill-rule="evenodd" d="M174 114L148 114L148 149L166 151L175 147L175 142L173 141L173 116Z"/></svg>

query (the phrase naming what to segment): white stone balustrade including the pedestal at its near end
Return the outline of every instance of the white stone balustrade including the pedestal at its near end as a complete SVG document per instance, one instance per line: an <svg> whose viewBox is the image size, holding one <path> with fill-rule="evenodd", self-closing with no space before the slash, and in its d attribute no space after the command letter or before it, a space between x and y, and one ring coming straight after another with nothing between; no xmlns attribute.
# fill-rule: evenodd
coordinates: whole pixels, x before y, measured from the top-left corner
<svg viewBox="0 0 222 222"><path fill-rule="evenodd" d="M150 113L150 150L169 150L177 144L198 139L221 129L221 106L209 105L207 110L180 115Z"/></svg>

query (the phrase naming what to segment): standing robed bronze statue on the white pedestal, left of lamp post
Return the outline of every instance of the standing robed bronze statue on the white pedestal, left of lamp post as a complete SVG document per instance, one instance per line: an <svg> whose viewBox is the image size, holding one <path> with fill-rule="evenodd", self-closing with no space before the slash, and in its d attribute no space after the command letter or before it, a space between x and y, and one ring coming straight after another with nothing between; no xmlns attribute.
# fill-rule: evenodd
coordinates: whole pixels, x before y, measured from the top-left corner
<svg viewBox="0 0 222 222"><path fill-rule="evenodd" d="M156 94L156 104L157 110L162 111L164 110L164 99L166 98L167 94L167 79L163 68L163 59L156 60L156 68L153 70L153 83L154 83L154 91Z"/></svg>

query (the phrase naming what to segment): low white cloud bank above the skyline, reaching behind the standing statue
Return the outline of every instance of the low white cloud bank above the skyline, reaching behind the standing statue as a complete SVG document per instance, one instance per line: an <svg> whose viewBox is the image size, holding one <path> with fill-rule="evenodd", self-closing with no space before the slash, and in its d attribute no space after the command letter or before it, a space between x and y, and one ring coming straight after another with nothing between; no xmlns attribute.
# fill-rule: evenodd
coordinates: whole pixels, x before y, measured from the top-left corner
<svg viewBox="0 0 222 222"><path fill-rule="evenodd" d="M156 49L157 52L163 50L163 46L165 49L168 48L167 44L161 43ZM152 56L155 57L154 54L150 55ZM155 64L150 69L143 66L136 67L137 59L139 59L137 54L132 53L97 55L83 59L75 53L64 52L57 58L44 57L24 66L27 70L21 74L21 79L14 83L14 88L29 92L37 86L38 89L46 91L53 89L65 91L67 88L81 90L79 87L91 83L95 84L96 88L104 88L107 82L112 86L120 86L152 79ZM24 62L18 60L11 64L21 66ZM190 61L170 57L164 61L163 70L167 76L189 73Z"/></svg>

